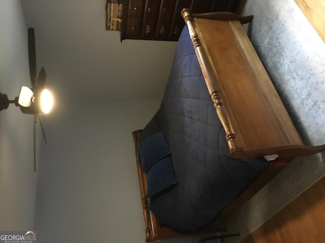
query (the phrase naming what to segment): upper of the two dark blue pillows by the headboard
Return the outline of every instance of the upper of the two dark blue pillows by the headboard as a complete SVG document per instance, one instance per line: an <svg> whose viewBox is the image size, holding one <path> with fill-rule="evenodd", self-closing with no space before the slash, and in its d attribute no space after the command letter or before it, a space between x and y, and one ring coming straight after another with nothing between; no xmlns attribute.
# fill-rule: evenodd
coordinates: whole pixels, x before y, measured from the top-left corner
<svg viewBox="0 0 325 243"><path fill-rule="evenodd" d="M163 133L156 133L143 140L137 146L137 150L141 158L143 172L147 172L160 159L171 153Z"/></svg>

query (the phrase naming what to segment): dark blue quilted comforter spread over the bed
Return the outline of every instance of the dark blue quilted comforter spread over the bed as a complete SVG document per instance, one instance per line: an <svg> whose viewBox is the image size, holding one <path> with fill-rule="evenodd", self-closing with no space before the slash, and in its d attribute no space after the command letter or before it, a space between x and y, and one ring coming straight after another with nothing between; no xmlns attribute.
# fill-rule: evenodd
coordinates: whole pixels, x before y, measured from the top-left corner
<svg viewBox="0 0 325 243"><path fill-rule="evenodd" d="M264 158L233 159L194 52L187 26L178 41L161 106L141 140L163 131L178 184L150 198L159 223L181 231L209 224L254 176Z"/></svg>

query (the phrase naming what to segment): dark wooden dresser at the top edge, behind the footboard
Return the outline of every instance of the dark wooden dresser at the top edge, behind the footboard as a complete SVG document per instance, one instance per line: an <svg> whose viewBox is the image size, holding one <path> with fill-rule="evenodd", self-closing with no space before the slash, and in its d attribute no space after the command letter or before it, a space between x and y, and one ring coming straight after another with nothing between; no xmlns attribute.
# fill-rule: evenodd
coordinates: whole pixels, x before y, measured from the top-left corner
<svg viewBox="0 0 325 243"><path fill-rule="evenodd" d="M185 23L183 8L192 13L229 11L240 13L243 0L124 0L121 42L123 39L177 41Z"/></svg>

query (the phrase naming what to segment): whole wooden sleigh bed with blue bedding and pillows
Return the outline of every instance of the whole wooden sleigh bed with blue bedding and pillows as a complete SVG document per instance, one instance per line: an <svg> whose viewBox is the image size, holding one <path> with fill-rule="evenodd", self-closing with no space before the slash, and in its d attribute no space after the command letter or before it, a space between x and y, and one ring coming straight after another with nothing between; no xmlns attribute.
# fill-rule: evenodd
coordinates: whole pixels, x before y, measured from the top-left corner
<svg viewBox="0 0 325 243"><path fill-rule="evenodd" d="M305 146L241 24L191 14L157 113L133 132L146 241L223 222ZM211 101L212 99L212 101Z"/></svg>

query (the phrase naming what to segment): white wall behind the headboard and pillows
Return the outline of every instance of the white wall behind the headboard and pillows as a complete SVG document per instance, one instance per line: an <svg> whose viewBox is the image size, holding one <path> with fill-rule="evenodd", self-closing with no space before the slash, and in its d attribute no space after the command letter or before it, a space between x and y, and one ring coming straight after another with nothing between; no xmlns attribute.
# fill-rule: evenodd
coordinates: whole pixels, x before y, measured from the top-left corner
<svg viewBox="0 0 325 243"><path fill-rule="evenodd" d="M144 128L159 103L58 104L44 121L40 242L144 242L132 132Z"/></svg>

